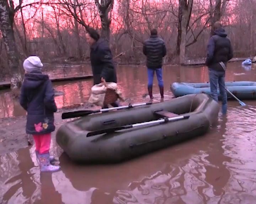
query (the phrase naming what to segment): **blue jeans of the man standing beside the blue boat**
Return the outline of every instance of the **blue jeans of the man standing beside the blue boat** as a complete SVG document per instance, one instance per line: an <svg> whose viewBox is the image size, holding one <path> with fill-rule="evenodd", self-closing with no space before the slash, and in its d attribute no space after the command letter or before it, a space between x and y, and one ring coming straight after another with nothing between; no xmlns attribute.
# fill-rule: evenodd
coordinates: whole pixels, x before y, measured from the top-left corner
<svg viewBox="0 0 256 204"><path fill-rule="evenodd" d="M219 84L220 96L222 97L222 113L227 111L227 95L225 90L225 72L209 69L210 92L212 98L218 102L217 87Z"/></svg>

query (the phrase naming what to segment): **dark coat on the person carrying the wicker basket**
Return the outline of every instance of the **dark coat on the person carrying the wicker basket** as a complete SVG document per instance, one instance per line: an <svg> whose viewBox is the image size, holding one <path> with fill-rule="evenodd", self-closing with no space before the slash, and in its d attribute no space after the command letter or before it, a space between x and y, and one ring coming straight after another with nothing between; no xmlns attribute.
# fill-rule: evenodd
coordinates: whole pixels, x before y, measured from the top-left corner
<svg viewBox="0 0 256 204"><path fill-rule="evenodd" d="M90 58L94 85L101 83L101 77L106 82L117 83L116 69L113 64L111 50L105 40L99 39L91 46Z"/></svg>

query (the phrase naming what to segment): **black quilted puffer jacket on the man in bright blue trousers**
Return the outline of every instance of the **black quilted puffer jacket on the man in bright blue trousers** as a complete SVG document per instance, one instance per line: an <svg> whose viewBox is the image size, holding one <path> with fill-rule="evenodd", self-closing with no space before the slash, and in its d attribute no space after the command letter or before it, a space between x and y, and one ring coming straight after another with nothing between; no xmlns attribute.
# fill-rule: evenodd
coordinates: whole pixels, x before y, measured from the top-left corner
<svg viewBox="0 0 256 204"><path fill-rule="evenodd" d="M151 35L144 42L143 53L146 55L146 66L150 69L162 68L162 58L166 55L165 42L157 35Z"/></svg>

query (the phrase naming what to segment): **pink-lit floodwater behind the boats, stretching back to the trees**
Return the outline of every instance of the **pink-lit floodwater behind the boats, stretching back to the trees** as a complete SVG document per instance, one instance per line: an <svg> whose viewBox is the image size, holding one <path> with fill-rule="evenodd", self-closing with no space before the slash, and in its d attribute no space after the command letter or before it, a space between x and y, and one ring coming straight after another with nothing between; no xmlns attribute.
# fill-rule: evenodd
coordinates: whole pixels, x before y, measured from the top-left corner
<svg viewBox="0 0 256 204"><path fill-rule="evenodd" d="M255 80L255 64L251 70L246 71L242 68L240 62L230 63L226 71L226 81ZM64 67L64 68L63 68ZM75 66L73 68L59 65L54 67L54 72L49 74L52 77L67 77L71 75L90 74L90 66ZM59 70L60 68L60 70ZM62 70L64 69L64 70ZM206 82L208 80L207 67L181 67L181 66L164 66L164 87L165 100L173 97L170 91L170 84L177 82ZM143 66L117 66L118 88L122 91L127 102L143 102L149 100L143 98L147 90L147 72ZM64 94L55 97L57 107L62 108L73 104L80 104L88 101L93 85L92 79L70 81L69 83L56 82L54 88L56 91L62 91ZM153 95L155 100L160 101L159 87L156 76L154 78ZM8 92L0 92L0 118L25 115L26 112L20 107L18 102L11 100Z"/></svg>

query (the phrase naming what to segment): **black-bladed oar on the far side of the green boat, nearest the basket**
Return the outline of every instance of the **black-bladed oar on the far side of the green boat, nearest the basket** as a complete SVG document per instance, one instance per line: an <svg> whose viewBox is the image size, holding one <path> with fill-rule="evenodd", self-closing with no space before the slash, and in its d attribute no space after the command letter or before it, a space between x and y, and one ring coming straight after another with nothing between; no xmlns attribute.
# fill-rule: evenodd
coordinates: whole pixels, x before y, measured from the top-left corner
<svg viewBox="0 0 256 204"><path fill-rule="evenodd" d="M67 118L76 118L76 117L81 117L85 115L90 115L92 113L100 113L100 112L108 112L108 111L113 111L113 110L120 110L120 109L128 109L128 108L134 108L137 106L145 106L145 105L150 105L152 102L148 103L138 103L138 104L129 104L128 106L119 106L119 107L113 107L113 108L104 108L96 111L90 111L90 110L81 110L81 111L72 111L72 112L65 112L62 113L62 119L67 119Z"/></svg>

